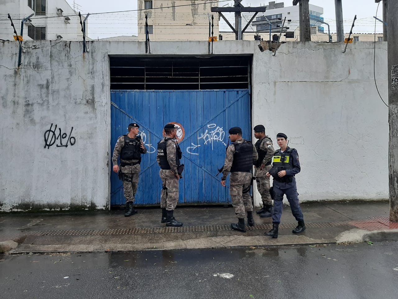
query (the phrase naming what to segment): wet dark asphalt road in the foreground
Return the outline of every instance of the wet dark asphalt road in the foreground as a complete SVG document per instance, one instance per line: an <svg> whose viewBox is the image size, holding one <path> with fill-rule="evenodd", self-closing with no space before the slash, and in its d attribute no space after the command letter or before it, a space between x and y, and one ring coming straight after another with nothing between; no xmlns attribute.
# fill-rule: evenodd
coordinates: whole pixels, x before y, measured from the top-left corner
<svg viewBox="0 0 398 299"><path fill-rule="evenodd" d="M396 242L0 260L1 297L7 299L398 298Z"/></svg>

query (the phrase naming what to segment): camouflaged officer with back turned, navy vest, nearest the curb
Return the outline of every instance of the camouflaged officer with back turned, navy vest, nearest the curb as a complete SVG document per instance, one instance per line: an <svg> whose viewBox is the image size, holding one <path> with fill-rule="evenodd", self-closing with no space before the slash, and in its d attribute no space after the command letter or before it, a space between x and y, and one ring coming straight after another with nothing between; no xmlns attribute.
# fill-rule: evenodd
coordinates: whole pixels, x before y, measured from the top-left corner
<svg viewBox="0 0 398 299"><path fill-rule="evenodd" d="M225 187L228 173L231 173L229 194L238 223L231 223L231 228L246 232L245 216L247 212L248 224L254 225L253 204L250 197L250 181L252 180L253 163L257 161L256 148L250 141L242 139L242 129L230 128L229 139L232 144L226 150L225 163L222 168L221 185Z"/></svg>

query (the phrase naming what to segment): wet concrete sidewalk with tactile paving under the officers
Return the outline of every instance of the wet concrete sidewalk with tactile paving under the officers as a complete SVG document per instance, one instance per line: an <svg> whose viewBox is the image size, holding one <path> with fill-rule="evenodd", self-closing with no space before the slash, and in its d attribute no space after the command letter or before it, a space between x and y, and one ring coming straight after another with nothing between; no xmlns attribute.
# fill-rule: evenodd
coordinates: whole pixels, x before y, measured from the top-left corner
<svg viewBox="0 0 398 299"><path fill-rule="evenodd" d="M306 231L292 234L297 222L285 206L277 239L263 235L271 228L271 218L255 214L255 225L242 233L230 228L230 223L237 221L232 208L196 207L176 209L174 216L184 224L179 228L160 223L160 209L139 209L131 217L124 217L123 210L2 214L0 242L16 242L9 242L14 244L11 253L225 248L361 242L369 232L398 229L398 223L388 220L388 202L327 202L301 207Z"/></svg>

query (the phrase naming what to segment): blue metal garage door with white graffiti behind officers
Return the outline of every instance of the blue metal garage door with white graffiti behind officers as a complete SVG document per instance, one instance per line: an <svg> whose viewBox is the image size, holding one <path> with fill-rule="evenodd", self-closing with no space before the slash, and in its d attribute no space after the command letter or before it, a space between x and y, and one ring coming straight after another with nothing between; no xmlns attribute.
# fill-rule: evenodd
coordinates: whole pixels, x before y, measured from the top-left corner
<svg viewBox="0 0 398 299"><path fill-rule="evenodd" d="M217 169L224 163L228 129L240 126L251 139L250 94L239 90L111 90L111 153L117 138L127 134L131 122L140 125L148 152L142 156L137 204L160 203L162 181L156 163L156 147L163 126L178 130L185 164L179 184L179 203L229 203L229 190L220 185ZM111 172L111 205L125 203L123 185Z"/></svg>

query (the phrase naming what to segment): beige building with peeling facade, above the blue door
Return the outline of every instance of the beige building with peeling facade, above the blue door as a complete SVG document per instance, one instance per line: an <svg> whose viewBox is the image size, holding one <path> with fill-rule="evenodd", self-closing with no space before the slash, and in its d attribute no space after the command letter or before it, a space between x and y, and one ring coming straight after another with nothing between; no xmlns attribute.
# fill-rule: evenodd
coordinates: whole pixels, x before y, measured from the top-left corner
<svg viewBox="0 0 398 299"><path fill-rule="evenodd" d="M138 0L138 39L145 40L145 16L151 41L208 40L211 8L214 0L193 1ZM214 15L213 36L219 35L219 17Z"/></svg>

